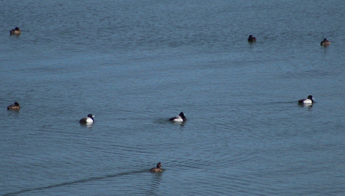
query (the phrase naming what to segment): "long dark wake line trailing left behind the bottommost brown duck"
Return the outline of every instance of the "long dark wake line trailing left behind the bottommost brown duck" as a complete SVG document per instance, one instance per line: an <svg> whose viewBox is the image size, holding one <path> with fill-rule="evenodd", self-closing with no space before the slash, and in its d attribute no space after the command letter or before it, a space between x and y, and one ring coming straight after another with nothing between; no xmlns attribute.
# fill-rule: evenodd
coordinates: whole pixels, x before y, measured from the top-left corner
<svg viewBox="0 0 345 196"><path fill-rule="evenodd" d="M61 187L61 186L68 186L68 185L72 185L72 184L79 184L79 183L89 182L89 181L93 181L93 180L100 180L100 179L104 179L104 178L114 178L114 177L118 177L118 176L124 176L124 175L135 174L135 173L143 173L143 172L148 172L148 170L145 169L145 170L140 170L140 171L131 171L131 172L125 172L125 173L108 175L108 176L91 177L91 178L86 178L86 179L82 179L82 180L76 180L76 181L72 181L72 182L60 183L60 184L43 186L43 187L38 187L38 188L28 188L28 189L19 190L17 192L6 193L3 196L5 196L5 195L16 195L16 194L35 191L35 190L42 190L42 189L49 189L49 188L55 188L55 187Z"/></svg>

